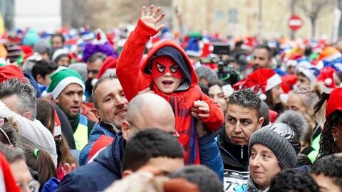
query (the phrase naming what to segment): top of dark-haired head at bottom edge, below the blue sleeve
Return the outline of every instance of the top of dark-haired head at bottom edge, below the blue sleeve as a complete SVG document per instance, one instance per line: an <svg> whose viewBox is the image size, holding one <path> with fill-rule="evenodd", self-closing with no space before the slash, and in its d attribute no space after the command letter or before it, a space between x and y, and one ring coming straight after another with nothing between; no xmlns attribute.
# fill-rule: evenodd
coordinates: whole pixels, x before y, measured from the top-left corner
<svg viewBox="0 0 342 192"><path fill-rule="evenodd" d="M201 192L223 192L222 181L206 166L185 166L170 174L170 178L185 178L197 184Z"/></svg>

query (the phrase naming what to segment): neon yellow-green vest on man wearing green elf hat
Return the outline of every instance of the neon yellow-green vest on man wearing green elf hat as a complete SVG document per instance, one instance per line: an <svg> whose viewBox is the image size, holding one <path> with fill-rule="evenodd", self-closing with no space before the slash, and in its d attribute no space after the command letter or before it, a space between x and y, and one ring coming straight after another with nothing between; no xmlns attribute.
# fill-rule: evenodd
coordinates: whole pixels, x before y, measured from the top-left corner
<svg viewBox="0 0 342 192"><path fill-rule="evenodd" d="M80 115L80 122L76 128L76 132L73 133L75 139L75 145L77 150L82 150L86 144L88 144L88 119L86 116Z"/></svg>

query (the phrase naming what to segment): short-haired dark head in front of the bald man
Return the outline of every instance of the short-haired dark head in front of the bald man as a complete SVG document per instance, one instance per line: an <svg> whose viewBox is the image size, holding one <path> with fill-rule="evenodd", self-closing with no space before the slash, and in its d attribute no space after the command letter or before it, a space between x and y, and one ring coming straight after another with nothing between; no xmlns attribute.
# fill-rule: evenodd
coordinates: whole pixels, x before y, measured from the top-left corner
<svg viewBox="0 0 342 192"><path fill-rule="evenodd" d="M160 129L142 130L125 146L123 176L135 171L167 176L184 166L183 156L183 147L172 134Z"/></svg>

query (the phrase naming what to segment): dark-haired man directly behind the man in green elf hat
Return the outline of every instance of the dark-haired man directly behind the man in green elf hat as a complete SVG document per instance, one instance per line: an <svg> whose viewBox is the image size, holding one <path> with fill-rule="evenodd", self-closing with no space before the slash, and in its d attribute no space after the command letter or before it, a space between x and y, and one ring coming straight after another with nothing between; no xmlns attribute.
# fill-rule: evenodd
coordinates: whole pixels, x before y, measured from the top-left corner
<svg viewBox="0 0 342 192"><path fill-rule="evenodd" d="M48 60L38 60L32 68L32 77L38 82L39 91L42 93L50 85L50 75L58 68L58 65Z"/></svg>

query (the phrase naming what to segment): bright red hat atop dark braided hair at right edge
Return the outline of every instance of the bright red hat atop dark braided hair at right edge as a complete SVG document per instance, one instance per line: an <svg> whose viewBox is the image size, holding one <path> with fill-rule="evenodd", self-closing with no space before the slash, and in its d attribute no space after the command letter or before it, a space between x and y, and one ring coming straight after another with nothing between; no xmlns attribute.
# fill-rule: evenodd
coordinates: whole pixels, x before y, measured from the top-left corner
<svg viewBox="0 0 342 192"><path fill-rule="evenodd" d="M342 111L341 98L342 98L342 87L338 87L331 91L329 99L326 102L326 118L328 118L329 115L336 110Z"/></svg>

